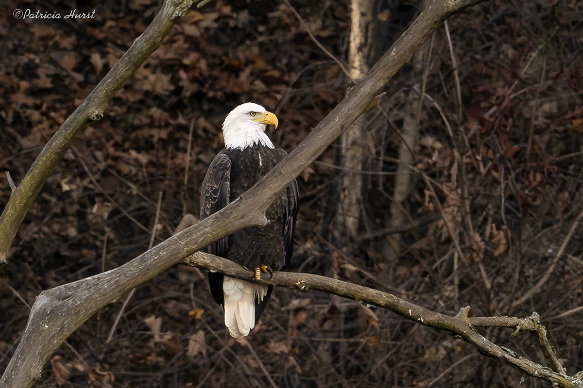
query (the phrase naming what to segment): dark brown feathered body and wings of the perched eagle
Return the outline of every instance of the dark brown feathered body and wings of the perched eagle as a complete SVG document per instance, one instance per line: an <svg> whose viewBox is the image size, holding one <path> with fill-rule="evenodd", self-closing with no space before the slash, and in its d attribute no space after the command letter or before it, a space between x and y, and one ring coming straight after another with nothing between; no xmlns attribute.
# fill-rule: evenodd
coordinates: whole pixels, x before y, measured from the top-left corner
<svg viewBox="0 0 583 388"><path fill-rule="evenodd" d="M235 200L286 155L282 149L254 144L245 148L225 148L213 160L201 187L201 219L219 211ZM273 270L285 269L293 251L298 193L296 181L271 204L265 226L240 230L209 245L208 252L230 259L248 269L267 265ZM218 304L224 304L223 275L209 273L209 286ZM262 301L255 300L255 319L265 308L273 287Z"/></svg>

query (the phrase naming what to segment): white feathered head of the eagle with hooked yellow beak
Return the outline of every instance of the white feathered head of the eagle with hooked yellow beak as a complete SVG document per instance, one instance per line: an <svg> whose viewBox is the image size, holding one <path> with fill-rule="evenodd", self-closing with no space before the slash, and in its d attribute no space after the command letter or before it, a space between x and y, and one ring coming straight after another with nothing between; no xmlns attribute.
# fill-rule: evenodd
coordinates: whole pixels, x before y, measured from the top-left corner
<svg viewBox="0 0 583 388"><path fill-rule="evenodd" d="M224 145L227 148L251 147L253 144L273 147L265 133L267 124L278 127L278 118L261 105L245 102L233 109L223 123Z"/></svg>

